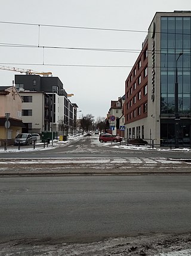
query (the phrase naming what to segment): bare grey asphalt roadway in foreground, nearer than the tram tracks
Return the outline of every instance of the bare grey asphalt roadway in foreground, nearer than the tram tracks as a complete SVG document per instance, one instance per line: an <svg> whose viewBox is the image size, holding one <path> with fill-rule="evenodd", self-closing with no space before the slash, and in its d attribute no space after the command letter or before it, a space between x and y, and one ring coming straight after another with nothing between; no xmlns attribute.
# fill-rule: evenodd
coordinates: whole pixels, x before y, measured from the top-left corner
<svg viewBox="0 0 191 256"><path fill-rule="evenodd" d="M190 231L191 176L1 177L0 241Z"/></svg>

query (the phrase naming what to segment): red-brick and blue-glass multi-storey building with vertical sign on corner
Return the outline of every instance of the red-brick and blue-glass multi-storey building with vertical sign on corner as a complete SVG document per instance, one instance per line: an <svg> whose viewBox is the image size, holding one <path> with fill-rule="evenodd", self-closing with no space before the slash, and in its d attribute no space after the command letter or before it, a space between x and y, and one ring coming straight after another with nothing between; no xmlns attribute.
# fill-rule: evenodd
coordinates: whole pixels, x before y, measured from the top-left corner
<svg viewBox="0 0 191 256"><path fill-rule="evenodd" d="M155 14L139 56L141 58L141 98L137 95L138 103L133 102L133 94L130 97L128 85L132 85L131 75L125 83L127 137L152 139L161 144L169 141L175 144L190 141L190 42L190 11ZM146 48L147 57L144 56ZM138 59L134 67L138 68ZM132 73L133 70L130 74ZM146 85L147 87L144 87ZM143 102L141 103L140 100ZM139 103L141 106L138 112L132 113L136 107L139 107ZM136 119L134 114L139 113Z"/></svg>

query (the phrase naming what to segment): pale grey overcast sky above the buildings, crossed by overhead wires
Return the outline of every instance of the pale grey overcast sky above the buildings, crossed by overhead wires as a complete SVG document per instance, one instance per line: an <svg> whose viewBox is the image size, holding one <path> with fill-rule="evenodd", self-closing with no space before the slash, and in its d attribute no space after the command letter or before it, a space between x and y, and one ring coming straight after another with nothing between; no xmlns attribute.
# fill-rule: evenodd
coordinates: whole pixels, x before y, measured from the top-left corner
<svg viewBox="0 0 191 256"><path fill-rule="evenodd" d="M125 80L137 59L155 13L190 9L190 0L1 1L0 65L39 72L51 71L53 76L63 82L66 92L74 94L70 101L78 104L78 110L82 110L79 115L106 117L110 101L118 100L125 94ZM84 27L111 30L82 29ZM8 44L36 47L10 47ZM14 74L19 73L0 70L0 85L11 85Z"/></svg>

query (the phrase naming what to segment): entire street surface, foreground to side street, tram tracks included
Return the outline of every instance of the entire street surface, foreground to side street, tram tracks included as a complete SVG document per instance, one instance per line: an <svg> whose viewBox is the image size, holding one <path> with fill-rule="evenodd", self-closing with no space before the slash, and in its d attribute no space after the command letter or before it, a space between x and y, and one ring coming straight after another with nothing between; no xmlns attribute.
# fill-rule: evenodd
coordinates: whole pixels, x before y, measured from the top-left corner
<svg viewBox="0 0 191 256"><path fill-rule="evenodd" d="M100 143L97 135L1 151L1 255L189 248L190 156Z"/></svg>

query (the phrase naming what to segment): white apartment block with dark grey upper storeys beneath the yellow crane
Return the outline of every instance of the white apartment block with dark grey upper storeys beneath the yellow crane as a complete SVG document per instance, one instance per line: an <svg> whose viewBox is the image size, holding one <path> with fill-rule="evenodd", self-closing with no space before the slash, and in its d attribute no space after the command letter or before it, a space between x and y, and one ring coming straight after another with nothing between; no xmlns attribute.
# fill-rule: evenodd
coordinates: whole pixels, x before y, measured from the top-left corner
<svg viewBox="0 0 191 256"><path fill-rule="evenodd" d="M41 109L42 113L39 113L39 116L34 115L33 122L30 122L32 131L37 132L37 129L39 129L39 131L58 132L67 129L67 132L73 132L76 125L76 109L78 106L75 103L70 102L68 95L63 88L63 83L58 77L16 75L15 83L16 88L21 94L24 92L23 95L26 97L31 97L32 95L32 97L35 97L35 105L33 106L34 113L36 107ZM51 98L51 107L50 98L48 98L48 96ZM26 107L26 105L29 107L30 104L27 103L23 106ZM33 104L31 103L31 107L32 105ZM26 117L23 117L24 121L26 121L26 119ZM39 124L39 127L36 127L36 124Z"/></svg>

